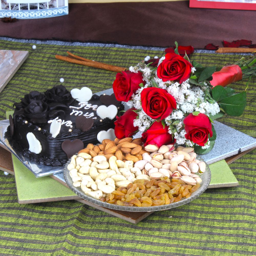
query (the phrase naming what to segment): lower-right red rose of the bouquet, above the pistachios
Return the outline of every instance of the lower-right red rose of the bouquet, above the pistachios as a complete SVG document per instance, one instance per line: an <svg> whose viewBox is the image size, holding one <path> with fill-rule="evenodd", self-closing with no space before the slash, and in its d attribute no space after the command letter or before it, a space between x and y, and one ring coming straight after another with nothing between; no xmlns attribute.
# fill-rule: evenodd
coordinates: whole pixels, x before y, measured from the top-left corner
<svg viewBox="0 0 256 256"><path fill-rule="evenodd" d="M211 121L205 114L193 115L190 113L184 118L185 138L193 141L199 146L204 146L208 140L208 135L212 137Z"/></svg>

